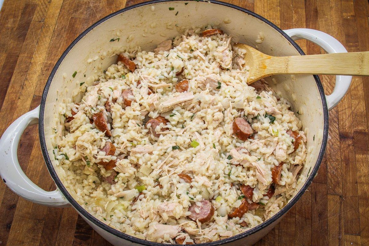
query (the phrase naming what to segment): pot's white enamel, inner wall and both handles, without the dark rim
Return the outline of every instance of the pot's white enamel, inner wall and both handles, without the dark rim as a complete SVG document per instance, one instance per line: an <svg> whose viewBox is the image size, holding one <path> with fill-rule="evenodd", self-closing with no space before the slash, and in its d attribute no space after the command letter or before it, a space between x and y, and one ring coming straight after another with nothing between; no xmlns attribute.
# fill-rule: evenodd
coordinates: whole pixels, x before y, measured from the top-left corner
<svg viewBox="0 0 369 246"><path fill-rule="evenodd" d="M168 8L170 7L174 7L178 14L175 15L176 11L169 11ZM119 13L101 22L87 32L68 51L58 65L58 69L52 76L52 81L47 91L45 108L40 112L44 118L41 131L44 133L45 139L40 141L46 144L46 149L42 146L45 159L50 159L58 175L54 179L56 181L60 179L62 185L59 187L65 188L69 192L71 199L76 200L73 185L68 180L65 180L63 170L61 170L58 162L53 157L53 149L56 143L54 129L63 129L64 124L64 118L61 117L59 106L65 102L79 101L82 94L80 82L92 84L93 80L90 78L96 77L98 70L105 70L115 63L116 56L114 54L119 53L124 48L139 45L142 47L142 50L152 51L160 42L179 35L185 28L204 27L204 25L208 24L232 35L234 42L251 45L265 54L273 56L300 55L284 35L266 22L236 8L218 3L208 3L207 1L150 3ZM316 37L315 42L327 52L346 52L341 44L337 44L338 41L336 39L323 32L313 31L315 30L286 30L287 34L294 39L306 38L314 42L314 37ZM255 41L260 32L265 36L262 44L258 44ZM120 41L109 42L111 38L117 37L120 37ZM130 37L134 38L131 39ZM343 49L339 49L339 47ZM75 71L77 71L77 75L72 77ZM339 78L343 81L342 84L344 86L341 87L338 83L334 93L327 97L330 108L334 107L347 91L349 86L347 77L349 76L340 76ZM303 130L308 129L306 138L307 148L310 149L310 152L307 154L306 164L301 172L301 182L297 184L296 195L302 189L308 177L313 175L313 173L310 173L310 170L320 165L318 156L322 154L323 141L327 138L323 134L323 132L327 132L327 129L324 127L324 122L326 122L324 119L325 105L323 105L316 81L311 75L276 75L266 78L266 81L269 82L277 94L290 102L294 112L300 113L299 118L303 122ZM37 110L31 111L17 119L4 133L1 143L7 147L1 147L0 150L2 156L8 157L7 164L3 164L1 169L4 167L9 169L11 167L13 171L1 170L0 173L1 175L5 174L6 178L11 180L11 183L6 180L6 184L18 195L40 204L64 206L68 202L63 200L62 195L58 191L52 193L42 191L24 175L17 162L16 145L20 134L31 121L36 121L37 117ZM22 123L20 124L20 122ZM16 133L13 134L13 131ZM11 158L8 155L10 151L12 153ZM85 202L79 201L79 204L84 208ZM77 205L75 207L77 208ZM113 235L113 233L104 229L101 224L94 221L94 218L89 218L88 214L83 214L83 209L79 209L78 212L93 229L113 245L139 245L138 243L130 242L124 235ZM269 220L272 222L268 226L224 245L252 245L265 236L283 216L284 214L279 216L279 218L272 218ZM142 243L148 244L147 241Z"/></svg>

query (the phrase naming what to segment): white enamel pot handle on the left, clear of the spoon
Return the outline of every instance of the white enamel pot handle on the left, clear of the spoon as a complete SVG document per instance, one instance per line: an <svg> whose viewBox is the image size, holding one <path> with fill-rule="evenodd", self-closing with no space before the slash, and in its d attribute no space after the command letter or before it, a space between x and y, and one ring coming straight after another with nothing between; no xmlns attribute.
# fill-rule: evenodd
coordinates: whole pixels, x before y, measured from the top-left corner
<svg viewBox="0 0 369 246"><path fill-rule="evenodd" d="M28 201L51 207L68 207L69 202L58 189L55 191L42 190L28 179L18 162L17 150L20 137L28 125L38 123L39 112L40 106L22 115L1 136L0 176L10 190Z"/></svg>

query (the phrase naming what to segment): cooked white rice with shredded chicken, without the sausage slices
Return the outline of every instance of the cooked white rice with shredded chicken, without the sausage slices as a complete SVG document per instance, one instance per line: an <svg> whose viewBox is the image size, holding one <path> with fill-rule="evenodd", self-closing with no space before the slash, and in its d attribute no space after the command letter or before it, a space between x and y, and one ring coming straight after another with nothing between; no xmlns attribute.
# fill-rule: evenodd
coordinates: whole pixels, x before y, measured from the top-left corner
<svg viewBox="0 0 369 246"><path fill-rule="evenodd" d="M63 104L60 114L64 115L65 129L54 150L55 158L69 183L69 192L88 212L137 238L166 243L185 238L185 244L244 232L289 201L297 179L293 167L302 166L306 156L301 121L266 83L259 83L258 90L246 84L248 66L239 59L242 51L233 49L230 41L226 34L200 37L186 32L173 39L170 51L127 51L123 55L135 58L134 72L121 62L113 64L101 71L94 84L81 85L81 90L86 90L82 101ZM183 75L176 76L182 67ZM215 89L201 84L204 76L211 74L220 82ZM182 79L189 80L193 99L162 112L164 101L184 94L174 90ZM148 88L155 93L148 95ZM133 92L130 107L124 105L124 89ZM111 112L106 110L107 100ZM76 114L66 122L72 111ZM106 117L110 138L90 123L97 112ZM145 127L145 112L150 118L161 115L168 119L168 129L159 138L153 138ZM255 139L242 141L233 134L232 123L237 117L252 125ZM286 133L289 129L302 139L296 151L294 139ZM100 151L107 141L116 146L114 155ZM131 151L143 146L153 151ZM230 159L235 148L241 149L242 157ZM114 170L97 164L102 160L115 160ZM273 184L271 170L281 162L279 185ZM180 179L180 173L192 177L192 183ZM110 184L107 177L112 179L113 175L116 183ZM254 188L252 201L247 201L260 207L241 218L229 218L241 204L241 184ZM270 186L275 186L275 194L269 199L266 193ZM215 212L201 225L188 217L188 209L192 204L201 205L203 199L211 201Z"/></svg>

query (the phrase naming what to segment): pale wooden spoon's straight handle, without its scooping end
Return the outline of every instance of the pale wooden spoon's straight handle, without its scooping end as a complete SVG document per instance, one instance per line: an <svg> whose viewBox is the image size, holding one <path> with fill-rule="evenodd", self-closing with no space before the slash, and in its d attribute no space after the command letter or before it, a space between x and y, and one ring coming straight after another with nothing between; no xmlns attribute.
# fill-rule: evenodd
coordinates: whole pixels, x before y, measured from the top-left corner
<svg viewBox="0 0 369 246"><path fill-rule="evenodd" d="M369 75L369 51L272 57L266 63L270 75Z"/></svg>

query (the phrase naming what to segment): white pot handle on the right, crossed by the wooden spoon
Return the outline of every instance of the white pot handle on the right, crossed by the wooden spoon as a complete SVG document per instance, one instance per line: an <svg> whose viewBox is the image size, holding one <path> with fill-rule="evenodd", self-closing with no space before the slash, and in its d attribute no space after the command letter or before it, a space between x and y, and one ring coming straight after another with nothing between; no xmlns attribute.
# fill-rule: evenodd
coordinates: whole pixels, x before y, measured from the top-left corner
<svg viewBox="0 0 369 246"><path fill-rule="evenodd" d="M334 37L325 32L308 28L293 28L284 30L293 40L307 39L319 45L327 53L347 53L345 47ZM351 84L352 76L336 75L336 83L332 94L325 95L328 110L334 108L345 96Z"/></svg>

